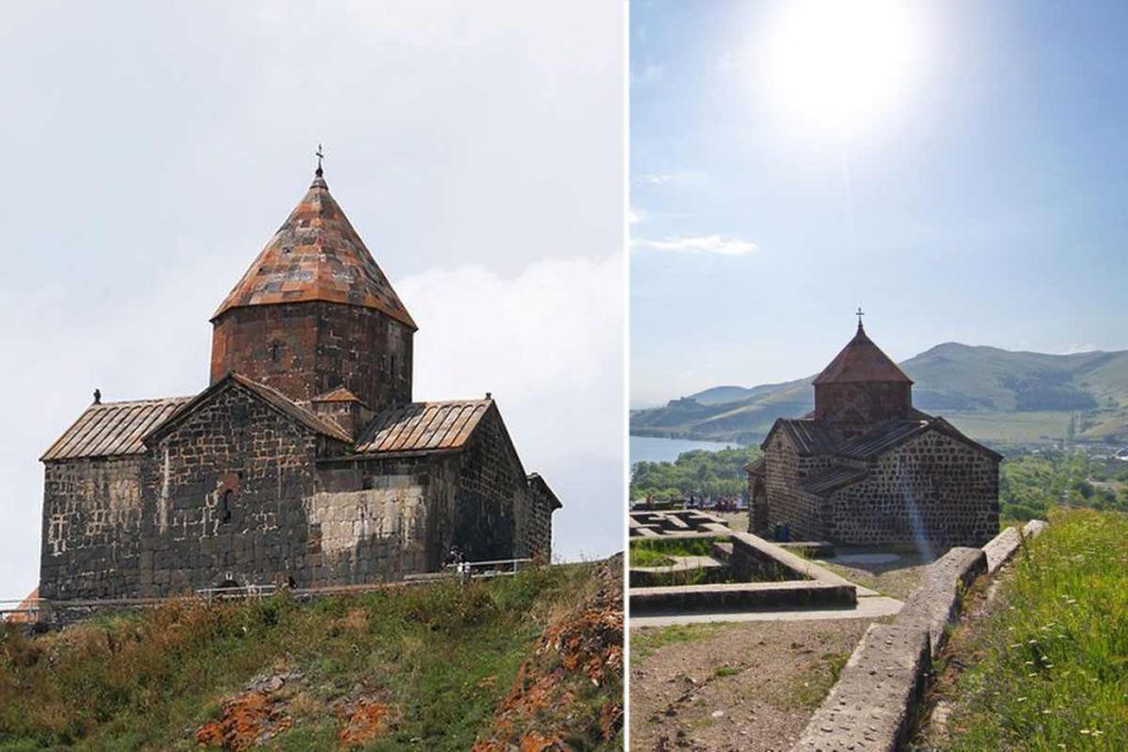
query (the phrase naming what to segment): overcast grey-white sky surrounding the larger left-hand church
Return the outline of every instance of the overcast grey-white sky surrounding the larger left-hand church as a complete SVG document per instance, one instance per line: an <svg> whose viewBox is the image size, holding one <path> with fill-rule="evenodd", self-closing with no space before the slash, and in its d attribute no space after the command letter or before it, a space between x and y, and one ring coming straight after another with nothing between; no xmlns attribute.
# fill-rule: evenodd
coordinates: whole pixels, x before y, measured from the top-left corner
<svg viewBox="0 0 1128 752"><path fill-rule="evenodd" d="M415 398L492 391L622 547L618 3L18 3L0 25L0 598L37 582L38 455L89 404L206 386L208 318L329 187L420 325ZM473 9L473 12L470 10Z"/></svg>

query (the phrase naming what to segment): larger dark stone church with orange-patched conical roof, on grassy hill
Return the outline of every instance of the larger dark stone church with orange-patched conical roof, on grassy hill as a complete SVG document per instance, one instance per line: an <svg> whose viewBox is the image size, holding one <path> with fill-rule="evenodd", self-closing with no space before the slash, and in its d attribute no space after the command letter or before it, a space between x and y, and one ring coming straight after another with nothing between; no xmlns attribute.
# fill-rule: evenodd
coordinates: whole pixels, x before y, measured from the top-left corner
<svg viewBox="0 0 1128 752"><path fill-rule="evenodd" d="M394 581L547 557L561 507L496 402L412 401L416 326L329 194L212 315L199 395L95 404L41 458L39 595Z"/></svg>

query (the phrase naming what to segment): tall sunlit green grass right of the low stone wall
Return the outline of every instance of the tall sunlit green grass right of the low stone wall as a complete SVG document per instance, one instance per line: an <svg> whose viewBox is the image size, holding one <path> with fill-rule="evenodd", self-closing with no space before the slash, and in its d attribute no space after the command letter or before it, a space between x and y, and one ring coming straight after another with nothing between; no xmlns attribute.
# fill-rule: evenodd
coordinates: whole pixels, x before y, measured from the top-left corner
<svg viewBox="0 0 1128 752"><path fill-rule="evenodd" d="M973 635L952 750L1128 749L1128 515L1055 510Z"/></svg>

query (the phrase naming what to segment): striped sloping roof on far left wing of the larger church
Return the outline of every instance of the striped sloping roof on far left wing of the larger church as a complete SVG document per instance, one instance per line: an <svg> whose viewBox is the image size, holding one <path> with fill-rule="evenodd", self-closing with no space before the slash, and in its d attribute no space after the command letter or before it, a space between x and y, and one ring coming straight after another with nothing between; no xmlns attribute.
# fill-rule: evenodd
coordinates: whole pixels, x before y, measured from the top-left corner
<svg viewBox="0 0 1128 752"><path fill-rule="evenodd" d="M192 397L168 397L90 405L39 459L141 454L146 434L190 401Z"/></svg>

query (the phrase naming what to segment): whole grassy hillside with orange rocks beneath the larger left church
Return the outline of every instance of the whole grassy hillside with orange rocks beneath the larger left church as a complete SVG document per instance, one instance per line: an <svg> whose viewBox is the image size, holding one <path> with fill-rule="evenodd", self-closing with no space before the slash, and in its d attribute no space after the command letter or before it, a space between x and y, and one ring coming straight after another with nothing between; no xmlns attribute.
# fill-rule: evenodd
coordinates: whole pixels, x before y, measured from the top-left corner
<svg viewBox="0 0 1128 752"><path fill-rule="evenodd" d="M0 749L618 749L620 563L6 626Z"/></svg>

